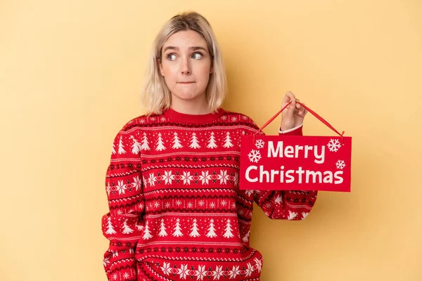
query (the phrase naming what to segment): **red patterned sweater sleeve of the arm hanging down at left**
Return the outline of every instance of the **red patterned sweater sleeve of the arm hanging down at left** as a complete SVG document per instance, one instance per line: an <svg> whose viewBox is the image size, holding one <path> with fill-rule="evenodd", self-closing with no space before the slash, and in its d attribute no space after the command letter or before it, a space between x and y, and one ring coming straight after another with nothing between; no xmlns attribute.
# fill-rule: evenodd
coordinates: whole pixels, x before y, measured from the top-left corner
<svg viewBox="0 0 422 281"><path fill-rule="evenodd" d="M103 256L108 280L136 281L136 244L143 228L144 208L140 145L123 129L113 143L106 172L108 213L102 218L103 235L110 241Z"/></svg>

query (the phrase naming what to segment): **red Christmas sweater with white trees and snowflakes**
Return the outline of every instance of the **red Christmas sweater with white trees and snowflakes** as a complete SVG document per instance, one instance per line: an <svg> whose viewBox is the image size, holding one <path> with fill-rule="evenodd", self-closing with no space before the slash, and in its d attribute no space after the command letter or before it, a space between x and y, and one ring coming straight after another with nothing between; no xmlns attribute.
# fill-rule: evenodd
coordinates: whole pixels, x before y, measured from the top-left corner
<svg viewBox="0 0 422 281"><path fill-rule="evenodd" d="M223 109L169 109L124 125L106 173L108 280L260 280L262 255L249 245L253 202L269 218L302 220L317 192L239 190L241 136L258 129Z"/></svg>

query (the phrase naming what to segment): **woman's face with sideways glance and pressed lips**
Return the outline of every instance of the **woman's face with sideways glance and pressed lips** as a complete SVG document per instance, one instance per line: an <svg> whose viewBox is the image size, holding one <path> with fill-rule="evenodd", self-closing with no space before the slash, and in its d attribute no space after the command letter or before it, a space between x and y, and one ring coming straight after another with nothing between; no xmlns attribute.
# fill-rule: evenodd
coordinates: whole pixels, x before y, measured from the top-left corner
<svg viewBox="0 0 422 281"><path fill-rule="evenodd" d="M198 32L186 30L172 34L162 46L161 55L160 73L172 99L205 98L212 73L211 56L207 42Z"/></svg>

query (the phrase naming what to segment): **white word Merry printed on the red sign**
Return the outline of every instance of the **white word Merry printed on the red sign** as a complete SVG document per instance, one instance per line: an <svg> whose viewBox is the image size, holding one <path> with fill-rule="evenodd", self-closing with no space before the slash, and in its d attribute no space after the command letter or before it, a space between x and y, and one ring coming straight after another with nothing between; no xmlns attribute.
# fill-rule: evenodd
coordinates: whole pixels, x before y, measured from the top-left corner
<svg viewBox="0 0 422 281"><path fill-rule="evenodd" d="M316 164L324 163L325 159L325 146L321 145L321 152L318 152L318 145L287 145L283 149L283 141L278 141L276 148L274 142L268 142L268 157L286 157L286 158L299 158L300 151L303 151L303 157L307 158L309 154L314 154L314 162ZM310 153L309 153L310 152Z"/></svg>

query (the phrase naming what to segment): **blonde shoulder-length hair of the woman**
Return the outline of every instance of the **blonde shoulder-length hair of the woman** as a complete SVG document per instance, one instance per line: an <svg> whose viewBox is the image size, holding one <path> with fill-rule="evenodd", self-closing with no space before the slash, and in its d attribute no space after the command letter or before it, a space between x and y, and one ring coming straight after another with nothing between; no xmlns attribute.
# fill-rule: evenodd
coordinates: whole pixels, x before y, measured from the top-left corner
<svg viewBox="0 0 422 281"><path fill-rule="evenodd" d="M171 105L172 94L165 84L164 77L159 72L158 60L161 61L162 46L165 41L172 34L184 30L198 32L207 42L213 66L213 72L210 74L210 80L205 89L210 111L217 112L226 97L227 81L222 53L210 23L198 13L185 12L174 15L167 21L153 42L151 58L146 70L146 80L141 91L141 103L147 115L161 114L162 110L166 110Z"/></svg>

